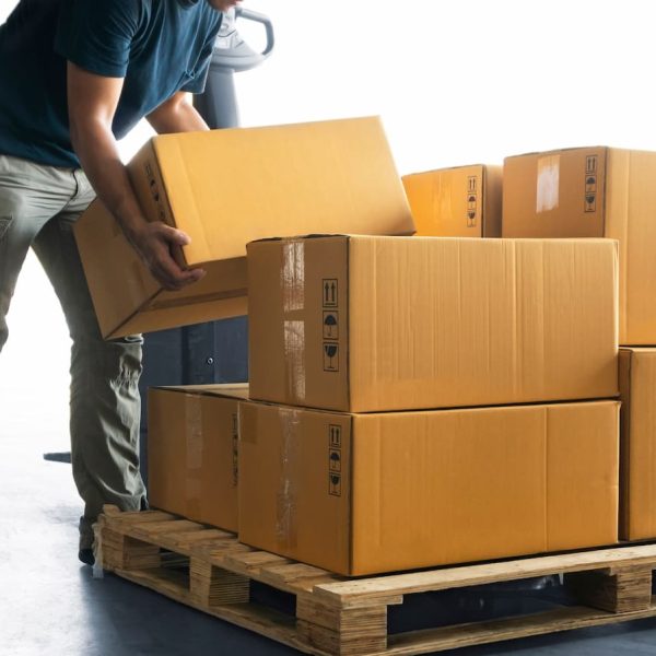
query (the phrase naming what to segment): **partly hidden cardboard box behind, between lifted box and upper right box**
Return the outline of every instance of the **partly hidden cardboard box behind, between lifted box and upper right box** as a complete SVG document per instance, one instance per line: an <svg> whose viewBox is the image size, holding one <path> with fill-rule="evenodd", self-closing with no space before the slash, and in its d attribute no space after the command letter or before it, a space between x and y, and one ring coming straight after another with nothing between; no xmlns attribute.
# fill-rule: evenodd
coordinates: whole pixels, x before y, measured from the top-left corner
<svg viewBox="0 0 656 656"><path fill-rule="evenodd" d="M501 237L502 171L476 164L403 176L417 234Z"/></svg>

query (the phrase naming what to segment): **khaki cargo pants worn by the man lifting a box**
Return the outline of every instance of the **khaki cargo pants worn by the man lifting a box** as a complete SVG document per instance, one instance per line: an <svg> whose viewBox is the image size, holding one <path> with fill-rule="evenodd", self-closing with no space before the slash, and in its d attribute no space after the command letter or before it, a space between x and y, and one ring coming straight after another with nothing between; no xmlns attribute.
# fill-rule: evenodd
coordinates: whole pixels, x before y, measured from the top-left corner
<svg viewBox="0 0 656 656"><path fill-rule="evenodd" d="M73 479L84 501L80 548L92 546L92 524L103 504L139 509L145 503L139 472L142 339L101 337L72 233L94 196L80 169L0 155L0 351L9 335L5 318L16 279L32 247L73 341L70 431Z"/></svg>

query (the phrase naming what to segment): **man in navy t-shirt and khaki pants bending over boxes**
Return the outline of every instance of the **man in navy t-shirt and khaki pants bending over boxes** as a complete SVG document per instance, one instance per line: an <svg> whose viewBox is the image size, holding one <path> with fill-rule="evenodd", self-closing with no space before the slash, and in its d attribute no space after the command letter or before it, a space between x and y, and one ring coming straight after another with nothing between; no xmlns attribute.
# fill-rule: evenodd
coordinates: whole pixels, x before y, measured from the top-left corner
<svg viewBox="0 0 656 656"><path fill-rule="evenodd" d="M93 564L103 504L145 507L139 473L141 336L104 341L72 225L95 195L168 290L199 280L180 231L143 218L117 139L204 130L204 85L223 11L241 0L21 0L0 26L0 350L30 247L59 297L71 350L71 455L84 501L79 558Z"/></svg>

